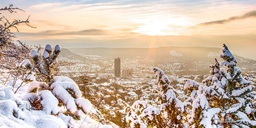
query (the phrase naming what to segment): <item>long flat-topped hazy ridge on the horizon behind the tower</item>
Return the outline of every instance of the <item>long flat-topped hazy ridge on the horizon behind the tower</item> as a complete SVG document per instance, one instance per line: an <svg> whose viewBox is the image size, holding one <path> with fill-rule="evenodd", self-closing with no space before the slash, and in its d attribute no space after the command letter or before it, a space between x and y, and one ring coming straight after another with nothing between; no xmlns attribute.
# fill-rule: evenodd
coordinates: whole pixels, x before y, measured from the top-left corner
<svg viewBox="0 0 256 128"><path fill-rule="evenodd" d="M101 55L116 57L120 55L122 58L126 57L151 57L151 58L187 58L194 60L213 60L214 56L218 57L218 54L222 53L221 48L212 47L158 47L158 48L70 48L71 52L76 54L86 54L86 55ZM212 57L212 58L211 58ZM241 58L235 55L236 58Z"/></svg>

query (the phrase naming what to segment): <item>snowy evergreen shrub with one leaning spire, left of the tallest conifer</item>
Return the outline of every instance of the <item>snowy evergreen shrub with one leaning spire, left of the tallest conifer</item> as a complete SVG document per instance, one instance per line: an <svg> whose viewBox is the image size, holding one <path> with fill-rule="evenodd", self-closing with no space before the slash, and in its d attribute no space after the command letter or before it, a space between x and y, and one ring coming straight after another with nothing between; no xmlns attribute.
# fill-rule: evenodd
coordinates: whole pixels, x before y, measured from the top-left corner
<svg viewBox="0 0 256 128"><path fill-rule="evenodd" d="M158 68L152 69L158 78L158 100L161 108L155 108L145 101L135 101L132 106L126 105L126 122L130 127L155 127L155 128L186 128L186 116L189 102L181 102L176 98L176 90L171 87L169 79ZM137 125L133 125L137 124Z"/></svg>

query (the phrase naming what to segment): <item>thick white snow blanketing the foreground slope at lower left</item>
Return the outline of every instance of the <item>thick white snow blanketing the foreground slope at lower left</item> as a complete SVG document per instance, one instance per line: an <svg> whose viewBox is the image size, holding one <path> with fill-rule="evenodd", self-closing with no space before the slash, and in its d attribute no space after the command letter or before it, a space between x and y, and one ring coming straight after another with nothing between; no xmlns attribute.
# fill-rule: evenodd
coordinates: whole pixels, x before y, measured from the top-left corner
<svg viewBox="0 0 256 128"><path fill-rule="evenodd" d="M2 71L1 71L2 72ZM22 80L17 79L13 85L14 80L7 80L8 74L0 74L0 127L1 128L112 128L115 126L103 125L96 120L92 119L81 110L77 110L72 106L72 103L76 103L84 111L90 113L94 112L90 101L82 98L81 92L78 92L78 97L68 97L70 95L65 94L65 88L76 87L75 83L71 79L65 77L59 77L55 79L55 85L53 92L49 90L37 91L37 93L29 93L31 90L39 88L41 82L22 83ZM64 83L69 81L68 84ZM17 87L22 86L17 90ZM73 84L73 85L72 85ZM80 91L78 88L74 89ZM54 92L55 91L55 92ZM63 91L63 92L62 92ZM80 93L80 94L79 94ZM33 97L37 96L42 98L41 104L42 110L34 110L30 101ZM57 98L65 98L67 108L59 107ZM69 106L71 105L71 106ZM74 104L75 105L75 104ZM69 108L70 107L70 108ZM80 120L74 120L70 116L62 114L66 109L79 113Z"/></svg>

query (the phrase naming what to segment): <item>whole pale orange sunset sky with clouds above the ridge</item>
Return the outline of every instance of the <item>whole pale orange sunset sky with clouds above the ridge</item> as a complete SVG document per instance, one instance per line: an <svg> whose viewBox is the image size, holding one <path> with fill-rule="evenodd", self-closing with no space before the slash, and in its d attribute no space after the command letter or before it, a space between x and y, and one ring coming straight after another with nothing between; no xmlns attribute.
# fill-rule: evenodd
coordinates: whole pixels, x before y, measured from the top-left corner
<svg viewBox="0 0 256 128"><path fill-rule="evenodd" d="M1 0L30 16L18 26L27 44L75 47L229 46L256 59L255 0Z"/></svg>

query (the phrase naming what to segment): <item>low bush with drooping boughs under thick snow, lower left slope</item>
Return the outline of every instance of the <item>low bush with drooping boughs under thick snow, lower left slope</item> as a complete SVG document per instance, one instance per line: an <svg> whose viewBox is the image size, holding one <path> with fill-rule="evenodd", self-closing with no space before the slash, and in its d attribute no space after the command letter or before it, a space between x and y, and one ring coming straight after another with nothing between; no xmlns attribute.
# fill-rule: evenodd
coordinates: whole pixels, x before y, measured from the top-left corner
<svg viewBox="0 0 256 128"><path fill-rule="evenodd" d="M81 96L78 85L73 80L65 76L55 76L52 85L45 82L31 82L23 99L32 106L34 102L40 103L39 108L47 114L63 113L74 119L80 119L81 113L95 111L90 101Z"/></svg>

